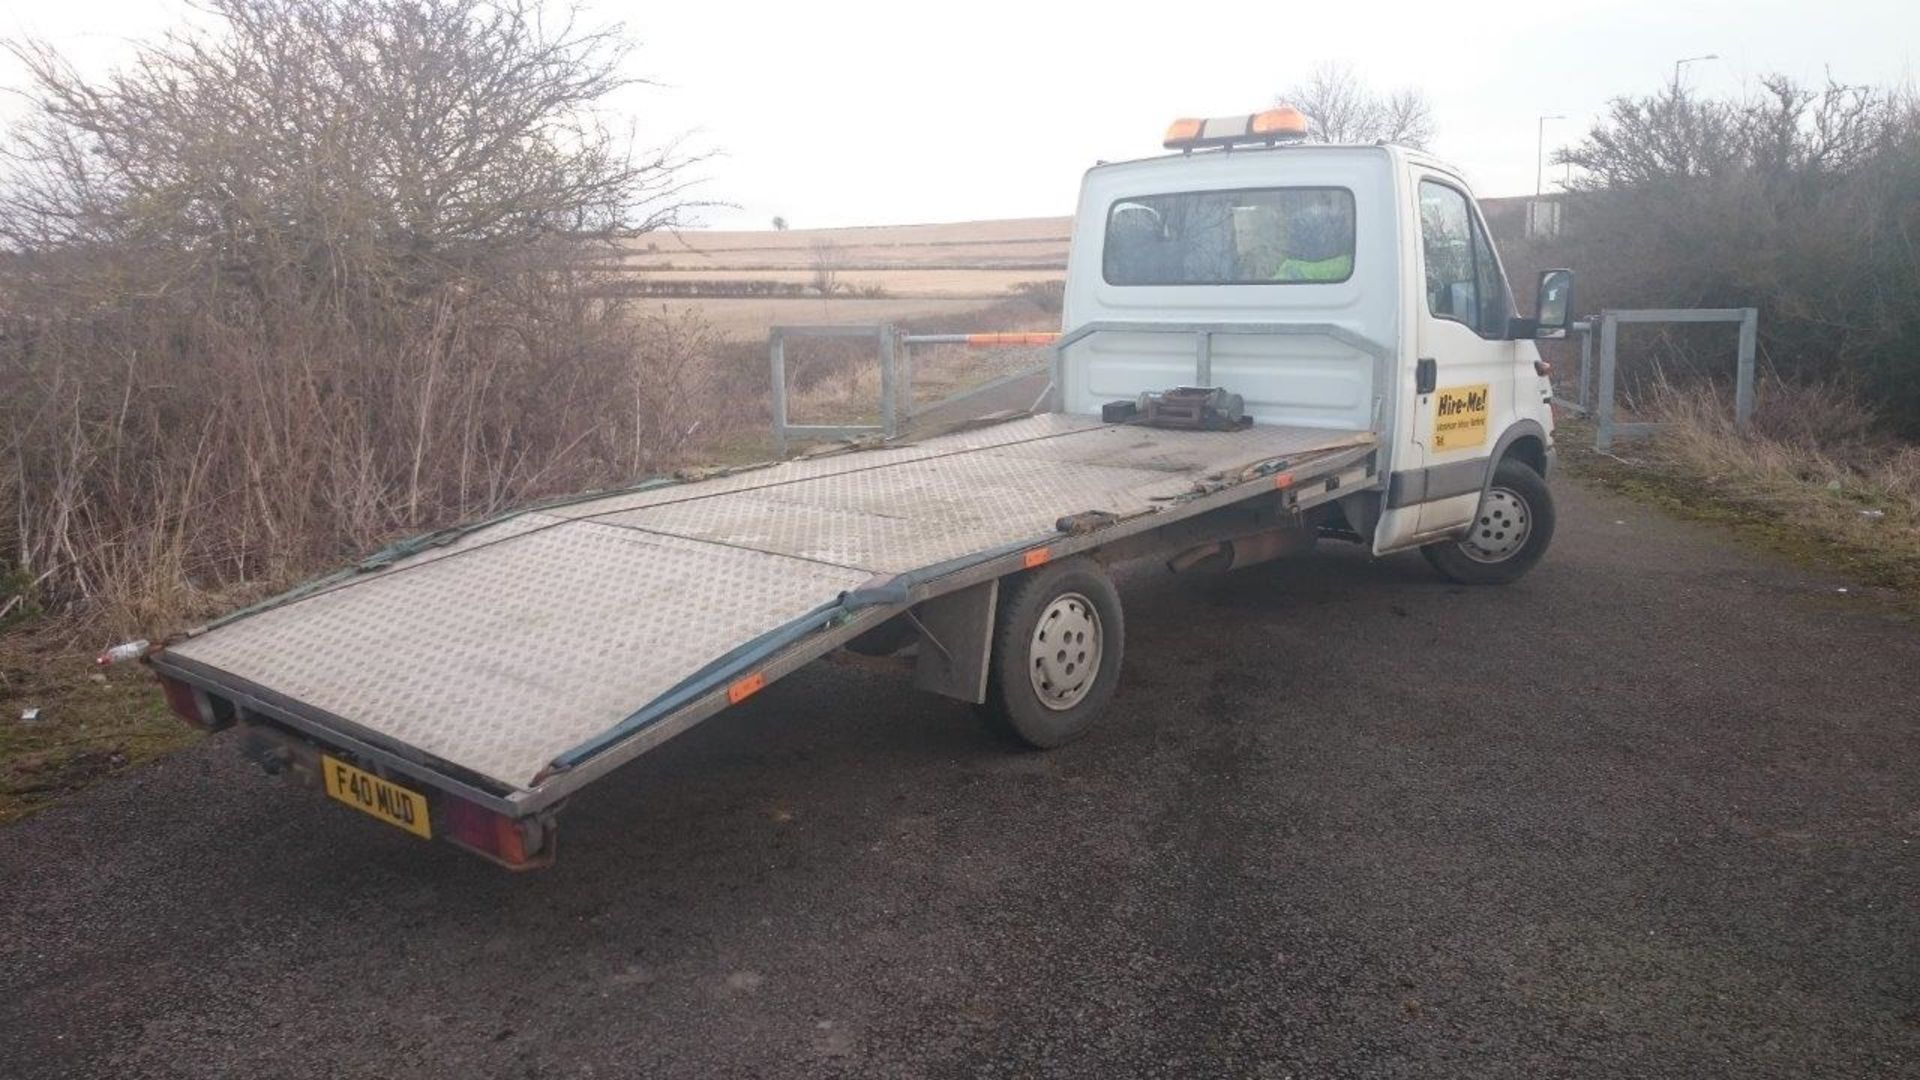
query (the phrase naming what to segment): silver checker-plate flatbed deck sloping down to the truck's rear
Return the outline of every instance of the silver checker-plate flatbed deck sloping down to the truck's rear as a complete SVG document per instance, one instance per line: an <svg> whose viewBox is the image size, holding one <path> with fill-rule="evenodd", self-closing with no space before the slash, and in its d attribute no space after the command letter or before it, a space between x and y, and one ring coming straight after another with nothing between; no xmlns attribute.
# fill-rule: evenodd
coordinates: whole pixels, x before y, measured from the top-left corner
<svg viewBox="0 0 1920 1080"><path fill-rule="evenodd" d="M745 642L841 594L1152 521L1369 432L1158 430L1046 413L534 509L165 650L200 680L526 792ZM184 661L184 663L179 663Z"/></svg>

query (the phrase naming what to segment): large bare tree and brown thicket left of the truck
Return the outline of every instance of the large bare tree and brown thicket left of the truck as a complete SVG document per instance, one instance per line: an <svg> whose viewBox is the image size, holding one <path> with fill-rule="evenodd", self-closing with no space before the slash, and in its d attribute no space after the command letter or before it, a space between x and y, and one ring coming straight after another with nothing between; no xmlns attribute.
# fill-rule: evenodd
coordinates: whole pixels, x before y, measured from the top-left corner
<svg viewBox="0 0 1920 1080"><path fill-rule="evenodd" d="M618 27L200 2L104 77L4 46L0 577L152 626L684 446L708 338L595 250L687 206L611 111Z"/></svg>

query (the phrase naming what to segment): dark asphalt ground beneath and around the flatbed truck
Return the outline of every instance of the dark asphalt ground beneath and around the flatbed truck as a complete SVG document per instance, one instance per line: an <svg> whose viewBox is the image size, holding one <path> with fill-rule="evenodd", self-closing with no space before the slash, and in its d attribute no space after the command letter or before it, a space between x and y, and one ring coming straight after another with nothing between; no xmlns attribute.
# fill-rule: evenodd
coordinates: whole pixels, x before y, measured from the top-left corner
<svg viewBox="0 0 1920 1080"><path fill-rule="evenodd" d="M1920 1074L1920 632L1557 490L1507 588L1127 575L1052 753L814 667L528 876L205 740L0 830L0 1074Z"/></svg>

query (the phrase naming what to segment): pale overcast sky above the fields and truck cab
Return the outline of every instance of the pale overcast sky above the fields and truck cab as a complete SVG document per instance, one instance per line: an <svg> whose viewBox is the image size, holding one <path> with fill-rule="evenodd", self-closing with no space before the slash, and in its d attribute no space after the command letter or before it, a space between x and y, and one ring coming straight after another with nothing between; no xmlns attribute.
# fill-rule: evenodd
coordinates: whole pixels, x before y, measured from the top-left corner
<svg viewBox="0 0 1920 1080"><path fill-rule="evenodd" d="M643 144L707 156L695 192L722 206L697 215L720 229L1066 215L1094 161L1158 154L1181 115L1265 108L1319 63L1423 90L1432 150L1480 196L1507 196L1534 190L1538 117L1567 117L1546 121L1551 156L1611 98L1667 85L1680 58L1716 54L1682 77L1720 96L1768 73L1912 85L1920 61L1914 0L586 6L624 23L649 81L614 111ZM6 2L0 35L96 71L182 17L179 0ZM0 58L0 85L17 75Z"/></svg>

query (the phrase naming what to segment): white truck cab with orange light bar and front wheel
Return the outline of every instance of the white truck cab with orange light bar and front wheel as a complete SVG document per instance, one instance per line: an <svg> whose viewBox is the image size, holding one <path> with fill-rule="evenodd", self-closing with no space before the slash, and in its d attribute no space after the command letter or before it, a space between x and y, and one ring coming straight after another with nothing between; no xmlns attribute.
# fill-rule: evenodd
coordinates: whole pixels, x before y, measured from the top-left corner
<svg viewBox="0 0 1920 1080"><path fill-rule="evenodd" d="M1448 577L1509 580L1551 532L1534 338L1565 334L1571 273L1544 273L1519 317L1457 169L1304 135L1288 108L1177 121L1173 154L1087 173L1056 404L1219 386L1254 423L1371 430L1380 482L1340 500L1346 528L1375 553L1423 548Z"/></svg>

